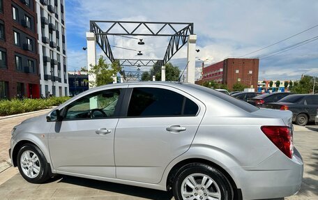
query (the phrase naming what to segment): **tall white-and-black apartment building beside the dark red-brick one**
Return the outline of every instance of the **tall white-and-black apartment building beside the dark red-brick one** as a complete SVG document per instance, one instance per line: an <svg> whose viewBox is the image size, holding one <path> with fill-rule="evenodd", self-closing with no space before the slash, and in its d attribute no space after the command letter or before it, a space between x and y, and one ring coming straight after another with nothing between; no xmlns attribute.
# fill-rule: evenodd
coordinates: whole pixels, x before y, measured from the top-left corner
<svg viewBox="0 0 318 200"><path fill-rule="evenodd" d="M65 0L36 0L40 91L47 96L68 95Z"/></svg>

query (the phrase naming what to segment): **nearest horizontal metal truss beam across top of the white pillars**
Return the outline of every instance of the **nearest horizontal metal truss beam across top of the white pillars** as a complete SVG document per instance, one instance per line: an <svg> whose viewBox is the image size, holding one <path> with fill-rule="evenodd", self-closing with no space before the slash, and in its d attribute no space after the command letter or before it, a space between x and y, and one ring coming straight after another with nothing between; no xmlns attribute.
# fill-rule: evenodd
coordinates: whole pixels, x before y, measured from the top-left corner
<svg viewBox="0 0 318 200"><path fill-rule="evenodd" d="M189 34L193 34L193 23L184 22L127 22L127 21L90 21L91 32L97 23L108 23L108 29L103 33L107 35L121 35L121 36L174 36L180 32L180 27L183 29L188 29ZM153 24L157 25L156 29ZM158 26L160 29L158 29ZM179 27L179 28L178 28ZM114 30L116 29L116 30ZM128 31L130 29L130 31ZM131 30L132 29L132 30ZM148 32L148 33L145 33ZM167 33L166 31L169 31Z"/></svg>

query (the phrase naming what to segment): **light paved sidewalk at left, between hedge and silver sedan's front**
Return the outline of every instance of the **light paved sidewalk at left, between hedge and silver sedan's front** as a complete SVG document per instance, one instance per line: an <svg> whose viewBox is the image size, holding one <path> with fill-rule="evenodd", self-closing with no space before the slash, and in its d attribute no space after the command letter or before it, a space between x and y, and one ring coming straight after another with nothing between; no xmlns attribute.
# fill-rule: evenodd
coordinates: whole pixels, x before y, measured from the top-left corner
<svg viewBox="0 0 318 200"><path fill-rule="evenodd" d="M33 116L46 114L52 109L43 109L40 111L32 111L27 114L17 114L14 116L1 116L0 118L0 164L9 159L8 148L10 148L11 130L15 125ZM1 171L1 169L0 169Z"/></svg>

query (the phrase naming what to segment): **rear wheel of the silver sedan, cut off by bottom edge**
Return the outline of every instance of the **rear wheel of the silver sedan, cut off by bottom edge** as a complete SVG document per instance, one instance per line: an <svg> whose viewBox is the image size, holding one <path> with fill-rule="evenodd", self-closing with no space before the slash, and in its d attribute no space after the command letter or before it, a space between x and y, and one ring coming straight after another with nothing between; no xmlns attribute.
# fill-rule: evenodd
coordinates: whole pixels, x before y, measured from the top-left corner
<svg viewBox="0 0 318 200"><path fill-rule="evenodd" d="M225 175L218 169L202 163L190 163L181 167L174 177L172 190L176 200L206 200L209 197L233 199L232 185Z"/></svg>

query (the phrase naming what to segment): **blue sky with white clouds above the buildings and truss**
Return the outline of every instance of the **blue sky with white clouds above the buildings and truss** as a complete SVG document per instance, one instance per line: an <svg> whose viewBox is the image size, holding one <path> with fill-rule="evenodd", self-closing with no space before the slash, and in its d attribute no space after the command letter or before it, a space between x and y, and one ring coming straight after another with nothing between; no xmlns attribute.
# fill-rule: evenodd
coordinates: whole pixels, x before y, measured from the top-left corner
<svg viewBox="0 0 318 200"><path fill-rule="evenodd" d="M197 57L209 59L205 66L227 57L254 52L318 24L318 1L213 1L213 0L67 0L66 32L68 70L86 66L85 33L89 20L126 20L147 22L193 22L197 34ZM310 31L249 54L268 54L318 36L318 26ZM142 59L162 59L169 38L144 37ZM140 49L137 41L110 36L112 45ZM184 68L186 46L171 60ZM112 49L115 58L132 59L135 52ZM97 49L98 54L102 54ZM264 56L263 56L264 57ZM197 61L197 67L201 63ZM143 68L142 70L149 70ZM318 76L318 40L307 45L260 59L259 80L299 79L302 74Z"/></svg>

